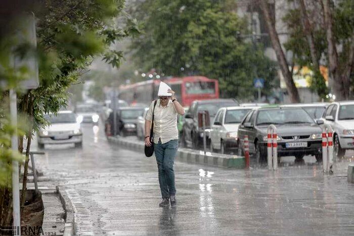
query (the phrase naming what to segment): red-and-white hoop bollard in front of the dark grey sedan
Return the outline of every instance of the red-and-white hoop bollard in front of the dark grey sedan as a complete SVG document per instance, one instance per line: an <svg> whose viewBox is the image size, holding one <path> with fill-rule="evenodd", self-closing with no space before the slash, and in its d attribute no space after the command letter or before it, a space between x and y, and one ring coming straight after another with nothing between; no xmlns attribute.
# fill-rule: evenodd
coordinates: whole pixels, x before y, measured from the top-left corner
<svg viewBox="0 0 354 236"><path fill-rule="evenodd" d="M267 129L267 162L268 169L278 169L278 140L277 127L274 124Z"/></svg>

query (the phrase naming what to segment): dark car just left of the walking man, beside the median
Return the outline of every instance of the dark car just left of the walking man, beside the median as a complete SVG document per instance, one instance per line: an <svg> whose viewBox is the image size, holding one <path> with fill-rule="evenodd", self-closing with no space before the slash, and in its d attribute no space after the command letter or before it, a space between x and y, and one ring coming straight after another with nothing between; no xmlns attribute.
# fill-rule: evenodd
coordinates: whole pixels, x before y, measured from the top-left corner
<svg viewBox="0 0 354 236"><path fill-rule="evenodd" d="M117 134L120 136L137 135L137 118L144 113L143 107L122 107L117 110ZM113 134L113 112L108 117Z"/></svg>

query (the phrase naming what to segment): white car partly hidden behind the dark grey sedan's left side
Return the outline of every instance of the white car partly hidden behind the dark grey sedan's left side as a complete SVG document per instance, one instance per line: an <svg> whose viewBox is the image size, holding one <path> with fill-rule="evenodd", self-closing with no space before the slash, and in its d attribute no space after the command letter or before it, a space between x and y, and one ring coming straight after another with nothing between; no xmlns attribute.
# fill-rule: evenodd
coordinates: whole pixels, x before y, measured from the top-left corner
<svg viewBox="0 0 354 236"><path fill-rule="evenodd" d="M227 107L220 108L211 124L210 147L212 151L226 151L238 149L237 130L243 117L254 107ZM234 152L234 153L235 153Z"/></svg>

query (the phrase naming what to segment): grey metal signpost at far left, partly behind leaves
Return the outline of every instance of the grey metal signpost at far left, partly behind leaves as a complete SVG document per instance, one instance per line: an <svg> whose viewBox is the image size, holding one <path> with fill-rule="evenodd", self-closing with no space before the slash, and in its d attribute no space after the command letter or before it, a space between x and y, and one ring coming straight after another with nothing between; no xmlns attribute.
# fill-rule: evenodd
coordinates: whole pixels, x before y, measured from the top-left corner
<svg viewBox="0 0 354 236"><path fill-rule="evenodd" d="M11 114L11 125L17 127L17 96L14 89L10 89L10 114ZM11 137L11 147L14 153L18 152L18 140L17 132ZM24 190L23 190L24 191ZM13 199L13 226L20 228L21 217L20 217L20 183L19 183L19 171L18 171L18 161L12 161L12 199Z"/></svg>

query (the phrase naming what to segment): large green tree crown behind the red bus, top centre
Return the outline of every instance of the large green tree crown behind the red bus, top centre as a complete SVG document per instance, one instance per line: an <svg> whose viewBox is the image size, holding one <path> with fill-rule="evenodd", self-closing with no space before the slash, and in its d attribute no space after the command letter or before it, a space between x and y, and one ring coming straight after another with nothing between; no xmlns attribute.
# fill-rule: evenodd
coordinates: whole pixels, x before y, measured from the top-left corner
<svg viewBox="0 0 354 236"><path fill-rule="evenodd" d="M131 13L144 24L131 46L136 64L160 74L218 79L224 97L253 100L256 77L265 79L269 92L274 65L259 45L240 37L249 33L247 24L230 6L231 1L143 1Z"/></svg>

